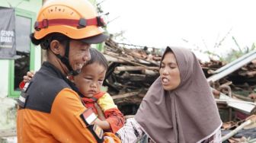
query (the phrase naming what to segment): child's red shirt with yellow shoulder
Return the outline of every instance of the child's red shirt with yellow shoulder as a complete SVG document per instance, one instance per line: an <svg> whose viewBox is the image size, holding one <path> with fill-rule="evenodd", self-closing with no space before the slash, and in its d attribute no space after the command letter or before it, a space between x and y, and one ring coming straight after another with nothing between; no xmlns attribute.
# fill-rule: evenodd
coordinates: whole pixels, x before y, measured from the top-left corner
<svg viewBox="0 0 256 143"><path fill-rule="evenodd" d="M87 108L91 107L96 114L98 114L98 112L94 106L94 103L98 103L101 110L104 112L107 122L110 124L112 132L116 133L120 128L123 127L125 121L123 113L118 110L117 105L114 103L114 100L110 94L100 92L91 98L82 97L82 100L84 101L85 106Z"/></svg>

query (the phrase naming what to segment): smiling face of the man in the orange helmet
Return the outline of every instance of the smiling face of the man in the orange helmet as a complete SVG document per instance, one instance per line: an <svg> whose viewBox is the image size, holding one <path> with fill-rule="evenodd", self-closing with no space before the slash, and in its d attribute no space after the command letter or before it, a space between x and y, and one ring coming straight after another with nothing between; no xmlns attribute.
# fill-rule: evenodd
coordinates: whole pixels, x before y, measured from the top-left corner
<svg viewBox="0 0 256 143"><path fill-rule="evenodd" d="M70 41L69 63L74 71L80 71L85 62L91 59L90 44L78 40Z"/></svg>

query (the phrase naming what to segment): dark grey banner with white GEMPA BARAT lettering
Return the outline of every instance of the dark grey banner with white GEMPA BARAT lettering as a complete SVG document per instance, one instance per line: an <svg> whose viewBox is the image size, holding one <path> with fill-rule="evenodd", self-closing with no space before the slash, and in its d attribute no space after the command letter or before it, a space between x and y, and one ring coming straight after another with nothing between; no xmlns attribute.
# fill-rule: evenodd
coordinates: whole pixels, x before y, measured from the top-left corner
<svg viewBox="0 0 256 143"><path fill-rule="evenodd" d="M0 59L14 59L16 55L14 8L0 7L0 15Z"/></svg>

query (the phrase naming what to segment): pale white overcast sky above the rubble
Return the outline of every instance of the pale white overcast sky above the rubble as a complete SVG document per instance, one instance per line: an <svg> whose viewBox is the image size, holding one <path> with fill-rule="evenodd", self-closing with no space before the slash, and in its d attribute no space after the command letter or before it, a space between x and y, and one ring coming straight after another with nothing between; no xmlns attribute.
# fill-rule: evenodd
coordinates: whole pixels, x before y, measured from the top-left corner
<svg viewBox="0 0 256 143"><path fill-rule="evenodd" d="M117 42L198 51L238 50L256 42L254 0L98 0L109 33L124 31ZM221 42L218 48L216 43Z"/></svg>

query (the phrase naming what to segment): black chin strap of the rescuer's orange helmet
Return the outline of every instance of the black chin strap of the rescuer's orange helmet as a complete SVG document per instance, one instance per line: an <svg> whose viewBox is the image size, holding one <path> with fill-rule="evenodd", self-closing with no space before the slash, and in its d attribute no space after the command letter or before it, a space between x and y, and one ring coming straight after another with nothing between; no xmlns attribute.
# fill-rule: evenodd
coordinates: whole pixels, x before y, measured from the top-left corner
<svg viewBox="0 0 256 143"><path fill-rule="evenodd" d="M69 69L69 75L74 75L75 76L75 75L79 74L79 71L73 70L73 68L71 67L71 65L69 63L69 49L70 49L69 43L70 43L70 40L67 40L64 56L60 56L59 54L56 54L56 56Z"/></svg>

